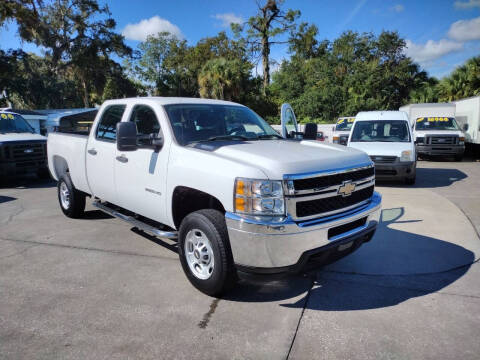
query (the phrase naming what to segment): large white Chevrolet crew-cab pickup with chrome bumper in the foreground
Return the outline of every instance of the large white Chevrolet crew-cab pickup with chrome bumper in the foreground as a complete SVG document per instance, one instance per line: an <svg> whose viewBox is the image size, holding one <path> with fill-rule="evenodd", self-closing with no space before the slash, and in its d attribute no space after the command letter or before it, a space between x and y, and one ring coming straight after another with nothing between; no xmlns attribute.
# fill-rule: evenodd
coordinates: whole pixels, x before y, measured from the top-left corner
<svg viewBox="0 0 480 360"><path fill-rule="evenodd" d="M296 130L285 105L283 127ZM183 270L219 295L244 272L298 272L373 236L381 196L367 154L283 138L245 106L189 98L105 102L89 134L51 133L48 163L64 214L85 198L178 241Z"/></svg>

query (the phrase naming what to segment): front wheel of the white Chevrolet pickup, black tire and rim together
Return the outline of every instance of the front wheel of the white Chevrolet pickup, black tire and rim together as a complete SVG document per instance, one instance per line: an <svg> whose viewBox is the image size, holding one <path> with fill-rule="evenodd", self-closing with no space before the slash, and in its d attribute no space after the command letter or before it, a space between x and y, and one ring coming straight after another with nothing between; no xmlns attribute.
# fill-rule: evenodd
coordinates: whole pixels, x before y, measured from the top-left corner
<svg viewBox="0 0 480 360"><path fill-rule="evenodd" d="M225 217L203 209L180 225L178 254L188 280L204 294L218 297L237 282Z"/></svg>

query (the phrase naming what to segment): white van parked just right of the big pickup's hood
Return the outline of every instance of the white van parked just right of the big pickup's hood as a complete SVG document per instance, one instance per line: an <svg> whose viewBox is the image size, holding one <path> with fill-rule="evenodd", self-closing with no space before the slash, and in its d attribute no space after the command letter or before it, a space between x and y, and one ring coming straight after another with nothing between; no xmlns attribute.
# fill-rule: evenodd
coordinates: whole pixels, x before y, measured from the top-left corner
<svg viewBox="0 0 480 360"><path fill-rule="evenodd" d="M403 111L359 112L348 146L365 151L375 163L378 180L415 183L417 156L407 113Z"/></svg>

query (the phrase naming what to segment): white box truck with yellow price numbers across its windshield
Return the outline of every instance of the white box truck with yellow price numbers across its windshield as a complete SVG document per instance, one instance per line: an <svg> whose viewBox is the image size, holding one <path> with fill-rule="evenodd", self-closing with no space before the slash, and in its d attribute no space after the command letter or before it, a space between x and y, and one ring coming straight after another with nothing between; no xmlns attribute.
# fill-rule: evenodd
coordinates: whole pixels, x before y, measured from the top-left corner
<svg viewBox="0 0 480 360"><path fill-rule="evenodd" d="M453 156L462 160L465 134L455 120L454 103L409 104L399 110L408 114L419 156Z"/></svg>

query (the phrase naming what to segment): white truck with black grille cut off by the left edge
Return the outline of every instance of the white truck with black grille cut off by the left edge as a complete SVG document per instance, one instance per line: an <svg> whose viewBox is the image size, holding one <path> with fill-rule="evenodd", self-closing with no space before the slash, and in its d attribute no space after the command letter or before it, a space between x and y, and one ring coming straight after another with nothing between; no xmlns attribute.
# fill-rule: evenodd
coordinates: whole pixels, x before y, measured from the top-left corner
<svg viewBox="0 0 480 360"><path fill-rule="evenodd" d="M0 112L0 179L16 175L37 174L49 177L47 138L19 114Z"/></svg>

